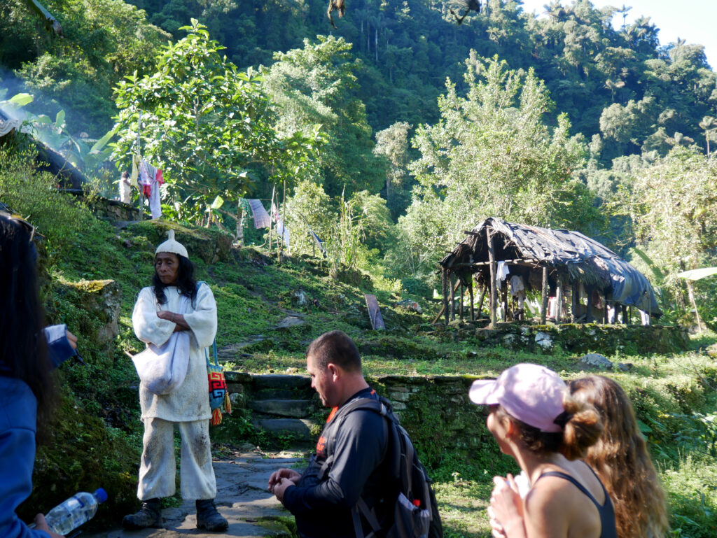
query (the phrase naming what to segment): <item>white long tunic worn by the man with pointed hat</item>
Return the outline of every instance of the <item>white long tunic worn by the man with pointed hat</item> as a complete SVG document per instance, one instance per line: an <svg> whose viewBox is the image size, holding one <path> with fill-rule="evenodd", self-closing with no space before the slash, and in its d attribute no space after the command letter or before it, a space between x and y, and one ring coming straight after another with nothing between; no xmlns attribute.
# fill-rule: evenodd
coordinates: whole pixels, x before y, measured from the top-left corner
<svg viewBox="0 0 717 538"><path fill-rule="evenodd" d="M132 325L137 337L145 343L163 345L169 340L175 324L157 317L158 310L179 312L181 295L175 286L164 289L166 304L157 303L153 287L143 288L132 313ZM184 314L191 328L189 336L189 368L184 383L173 393L156 395L139 386L142 420L162 418L165 421L201 421L212 417L209 409L209 381L206 378L204 348L212 345L217 334L217 303L209 286L201 284Z"/></svg>

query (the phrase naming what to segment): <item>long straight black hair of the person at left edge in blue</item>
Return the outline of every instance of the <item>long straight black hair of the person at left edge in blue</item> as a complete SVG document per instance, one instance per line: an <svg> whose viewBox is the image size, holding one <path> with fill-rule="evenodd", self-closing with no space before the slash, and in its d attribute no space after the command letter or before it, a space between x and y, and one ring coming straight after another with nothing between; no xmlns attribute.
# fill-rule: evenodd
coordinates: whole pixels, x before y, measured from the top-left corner
<svg viewBox="0 0 717 538"><path fill-rule="evenodd" d="M0 216L0 375L23 380L37 398L37 431L47 426L56 401L44 309L39 300L37 252L31 234Z"/></svg>

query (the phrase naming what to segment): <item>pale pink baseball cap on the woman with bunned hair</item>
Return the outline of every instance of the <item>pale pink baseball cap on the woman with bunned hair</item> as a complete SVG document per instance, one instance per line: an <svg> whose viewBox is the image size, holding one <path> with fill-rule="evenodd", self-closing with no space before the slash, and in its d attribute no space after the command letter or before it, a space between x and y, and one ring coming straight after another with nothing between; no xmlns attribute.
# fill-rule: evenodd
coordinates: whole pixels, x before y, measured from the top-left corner
<svg viewBox="0 0 717 538"><path fill-rule="evenodd" d="M478 405L500 405L519 421L545 432L563 431L555 419L564 413L565 382L553 370L536 364L517 364L498 379L473 381L470 400Z"/></svg>

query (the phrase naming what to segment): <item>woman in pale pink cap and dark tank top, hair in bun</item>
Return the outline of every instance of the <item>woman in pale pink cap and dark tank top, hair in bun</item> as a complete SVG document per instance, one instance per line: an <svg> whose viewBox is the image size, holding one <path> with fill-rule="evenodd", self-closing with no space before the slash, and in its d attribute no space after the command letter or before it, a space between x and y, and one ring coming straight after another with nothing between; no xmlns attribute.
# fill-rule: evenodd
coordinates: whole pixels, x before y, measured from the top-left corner
<svg viewBox="0 0 717 538"><path fill-rule="evenodd" d="M489 514L497 538L617 538L609 495L581 459L602 432L599 414L574 400L540 365L518 364L497 380L477 380L470 399L488 405L488 430L528 477L523 498L513 476L495 476Z"/></svg>

